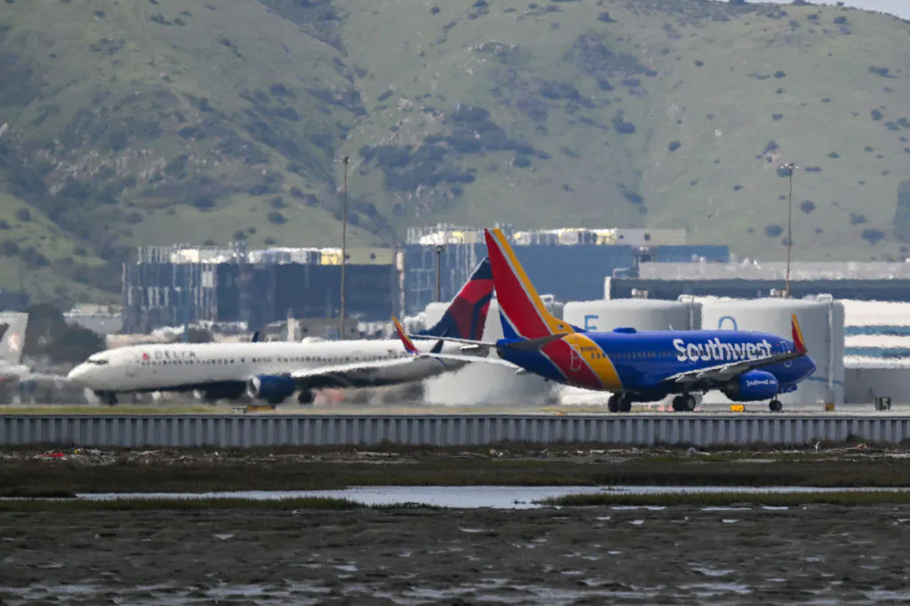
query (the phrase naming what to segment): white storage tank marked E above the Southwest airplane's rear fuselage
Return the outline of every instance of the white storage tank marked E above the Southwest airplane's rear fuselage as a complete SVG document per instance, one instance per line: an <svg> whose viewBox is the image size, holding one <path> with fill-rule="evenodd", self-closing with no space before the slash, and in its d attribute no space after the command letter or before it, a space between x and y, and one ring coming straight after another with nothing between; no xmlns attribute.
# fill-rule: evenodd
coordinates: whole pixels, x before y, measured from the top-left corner
<svg viewBox="0 0 910 606"><path fill-rule="evenodd" d="M562 318L588 331L609 332L632 327L639 331L690 331L702 326L702 304L654 299L571 301Z"/></svg>

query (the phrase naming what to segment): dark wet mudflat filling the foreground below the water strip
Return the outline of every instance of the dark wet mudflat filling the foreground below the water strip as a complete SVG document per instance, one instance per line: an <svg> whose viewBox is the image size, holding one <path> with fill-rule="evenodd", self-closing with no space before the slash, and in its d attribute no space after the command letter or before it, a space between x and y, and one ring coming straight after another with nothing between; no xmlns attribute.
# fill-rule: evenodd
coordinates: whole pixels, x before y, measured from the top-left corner
<svg viewBox="0 0 910 606"><path fill-rule="evenodd" d="M10 512L0 603L895 604L910 507Z"/></svg>

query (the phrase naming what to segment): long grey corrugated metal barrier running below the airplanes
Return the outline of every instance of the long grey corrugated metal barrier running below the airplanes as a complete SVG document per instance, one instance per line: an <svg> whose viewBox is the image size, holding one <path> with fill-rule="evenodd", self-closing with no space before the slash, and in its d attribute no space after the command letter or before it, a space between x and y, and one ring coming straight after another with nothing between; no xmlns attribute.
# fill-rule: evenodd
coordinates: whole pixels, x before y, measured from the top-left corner
<svg viewBox="0 0 910 606"><path fill-rule="evenodd" d="M219 446L345 445L393 442L653 444L898 443L910 416L844 414L598 415L8 415L0 445Z"/></svg>

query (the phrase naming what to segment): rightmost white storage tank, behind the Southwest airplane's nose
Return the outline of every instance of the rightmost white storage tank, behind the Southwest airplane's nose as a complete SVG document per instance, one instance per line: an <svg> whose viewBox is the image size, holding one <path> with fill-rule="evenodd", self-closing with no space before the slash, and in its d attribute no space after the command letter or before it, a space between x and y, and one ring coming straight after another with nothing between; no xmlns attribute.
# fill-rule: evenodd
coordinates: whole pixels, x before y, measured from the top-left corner
<svg viewBox="0 0 910 606"><path fill-rule="evenodd" d="M791 314L796 314L809 355L817 370L796 392L780 396L787 404L844 403L844 304L828 295L805 299L703 301L704 330L760 331L792 338ZM713 391L704 402L731 402ZM748 404L747 404L748 406Z"/></svg>

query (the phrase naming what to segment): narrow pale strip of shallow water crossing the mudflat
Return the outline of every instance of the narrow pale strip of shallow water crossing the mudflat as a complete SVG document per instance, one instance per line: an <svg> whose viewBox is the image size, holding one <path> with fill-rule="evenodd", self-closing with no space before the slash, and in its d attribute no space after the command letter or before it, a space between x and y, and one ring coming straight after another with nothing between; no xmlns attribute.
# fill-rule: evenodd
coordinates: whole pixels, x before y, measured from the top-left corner
<svg viewBox="0 0 910 606"><path fill-rule="evenodd" d="M766 488L731 488L727 486L362 486L338 491L248 491L248 492L131 492L77 494L86 501L116 499L254 499L278 501L323 497L349 499L365 505L393 505L405 502L420 503L453 509L533 509L538 502L567 494L668 494L672 492L743 494L772 494L790 492L905 492L910 488L815 488L804 486L773 486Z"/></svg>

